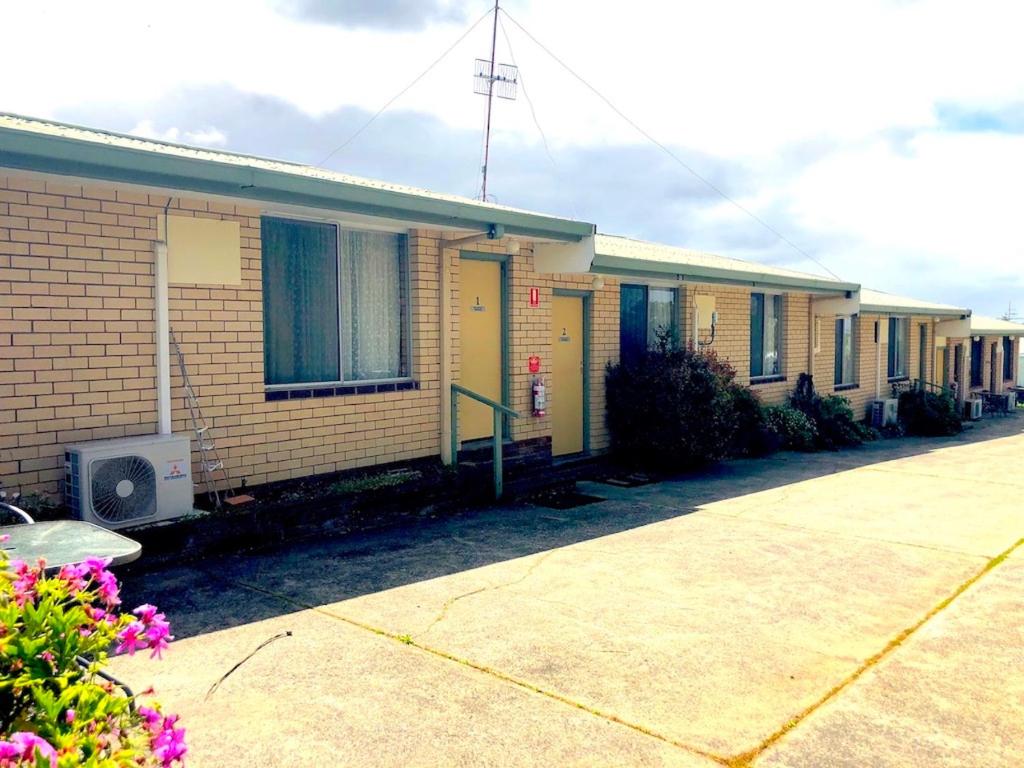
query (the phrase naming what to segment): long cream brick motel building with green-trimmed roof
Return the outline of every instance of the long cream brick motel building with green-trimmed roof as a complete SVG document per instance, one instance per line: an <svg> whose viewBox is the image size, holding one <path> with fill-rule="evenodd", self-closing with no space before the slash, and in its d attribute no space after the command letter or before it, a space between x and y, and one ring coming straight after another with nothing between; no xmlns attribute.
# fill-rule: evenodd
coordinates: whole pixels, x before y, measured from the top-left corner
<svg viewBox="0 0 1024 768"><path fill-rule="evenodd" d="M170 330L232 483L254 485L449 461L453 431L458 447L494 428L464 395L453 424L453 385L517 413L510 451L600 453L606 365L662 333L718 352L766 402L811 372L863 410L891 380L945 370L940 327L967 336L966 315L587 222L0 116L5 487L56 493L68 443L188 433Z"/></svg>

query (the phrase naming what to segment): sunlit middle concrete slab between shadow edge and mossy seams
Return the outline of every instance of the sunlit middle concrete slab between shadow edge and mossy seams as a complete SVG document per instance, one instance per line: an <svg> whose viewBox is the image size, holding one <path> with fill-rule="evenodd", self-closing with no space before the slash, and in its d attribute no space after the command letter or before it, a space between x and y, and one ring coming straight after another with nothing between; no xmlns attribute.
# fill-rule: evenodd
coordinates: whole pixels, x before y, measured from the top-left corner
<svg viewBox="0 0 1024 768"><path fill-rule="evenodd" d="M325 610L732 754L838 685L983 565L689 515Z"/></svg>

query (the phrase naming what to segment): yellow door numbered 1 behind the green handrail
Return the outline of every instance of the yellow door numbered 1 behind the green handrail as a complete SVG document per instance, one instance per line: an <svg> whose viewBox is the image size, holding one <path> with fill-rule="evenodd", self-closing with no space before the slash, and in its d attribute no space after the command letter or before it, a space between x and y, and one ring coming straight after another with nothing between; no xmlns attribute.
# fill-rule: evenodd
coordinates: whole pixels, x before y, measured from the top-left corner
<svg viewBox="0 0 1024 768"><path fill-rule="evenodd" d="M501 402L502 265L497 261L461 259L459 279L459 383ZM460 395L459 438L475 440L494 433L494 412Z"/></svg>

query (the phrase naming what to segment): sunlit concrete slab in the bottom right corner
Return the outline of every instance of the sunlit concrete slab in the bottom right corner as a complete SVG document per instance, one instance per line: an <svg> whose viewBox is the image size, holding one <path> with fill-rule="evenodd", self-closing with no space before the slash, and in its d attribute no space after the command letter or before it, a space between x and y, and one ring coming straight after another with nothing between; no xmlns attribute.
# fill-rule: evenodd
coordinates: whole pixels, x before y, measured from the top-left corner
<svg viewBox="0 0 1024 768"><path fill-rule="evenodd" d="M1024 557L1017 552L756 765L1024 765Z"/></svg>

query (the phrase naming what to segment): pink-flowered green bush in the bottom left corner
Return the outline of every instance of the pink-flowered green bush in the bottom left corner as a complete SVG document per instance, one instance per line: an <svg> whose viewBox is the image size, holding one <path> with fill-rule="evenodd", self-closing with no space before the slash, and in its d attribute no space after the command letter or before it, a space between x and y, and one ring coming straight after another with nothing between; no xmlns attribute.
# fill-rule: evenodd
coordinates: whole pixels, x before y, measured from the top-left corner
<svg viewBox="0 0 1024 768"><path fill-rule="evenodd" d="M0 768L171 768L183 765L184 730L100 676L110 649L148 650L172 640L153 605L119 612L109 560L55 575L45 563L0 551Z"/></svg>

